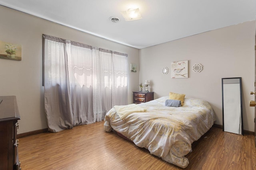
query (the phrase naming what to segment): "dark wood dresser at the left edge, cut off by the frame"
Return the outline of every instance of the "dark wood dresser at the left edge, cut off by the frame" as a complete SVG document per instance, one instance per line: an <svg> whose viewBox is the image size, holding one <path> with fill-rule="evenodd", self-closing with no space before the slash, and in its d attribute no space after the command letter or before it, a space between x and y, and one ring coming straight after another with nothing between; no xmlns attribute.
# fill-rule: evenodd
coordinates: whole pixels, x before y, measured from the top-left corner
<svg viewBox="0 0 256 170"><path fill-rule="evenodd" d="M0 170L20 170L16 96L0 96Z"/></svg>

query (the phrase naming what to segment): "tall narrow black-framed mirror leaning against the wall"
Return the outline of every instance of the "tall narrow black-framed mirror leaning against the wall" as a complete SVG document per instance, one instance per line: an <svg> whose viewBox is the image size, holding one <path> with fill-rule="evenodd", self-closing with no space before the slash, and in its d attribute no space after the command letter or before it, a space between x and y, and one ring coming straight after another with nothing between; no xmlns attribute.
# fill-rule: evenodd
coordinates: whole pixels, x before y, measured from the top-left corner
<svg viewBox="0 0 256 170"><path fill-rule="evenodd" d="M223 131L243 135L242 82L238 78L222 78Z"/></svg>

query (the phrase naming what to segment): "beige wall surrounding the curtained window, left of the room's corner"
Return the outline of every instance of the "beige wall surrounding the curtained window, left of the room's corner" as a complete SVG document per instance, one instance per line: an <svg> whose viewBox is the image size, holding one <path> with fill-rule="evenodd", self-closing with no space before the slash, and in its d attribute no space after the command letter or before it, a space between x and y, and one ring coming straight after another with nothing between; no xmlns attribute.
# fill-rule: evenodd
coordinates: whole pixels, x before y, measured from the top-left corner
<svg viewBox="0 0 256 170"><path fill-rule="evenodd" d="M22 61L0 59L0 96L16 96L20 111L18 133L47 128L42 86L42 34L128 54L128 102L138 90L139 50L0 6L0 41L22 45Z"/></svg>

